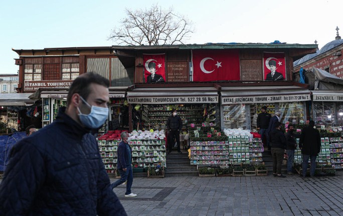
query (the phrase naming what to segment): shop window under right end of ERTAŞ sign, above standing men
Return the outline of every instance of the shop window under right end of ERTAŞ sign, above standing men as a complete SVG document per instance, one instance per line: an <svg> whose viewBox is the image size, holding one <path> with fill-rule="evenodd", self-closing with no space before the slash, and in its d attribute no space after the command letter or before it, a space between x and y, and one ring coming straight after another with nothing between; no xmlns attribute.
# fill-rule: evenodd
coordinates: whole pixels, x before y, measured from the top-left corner
<svg viewBox="0 0 343 216"><path fill-rule="evenodd" d="M287 121L291 124L299 124L300 121L305 121L304 102L279 103L279 111L281 112L280 122L283 124Z"/></svg>

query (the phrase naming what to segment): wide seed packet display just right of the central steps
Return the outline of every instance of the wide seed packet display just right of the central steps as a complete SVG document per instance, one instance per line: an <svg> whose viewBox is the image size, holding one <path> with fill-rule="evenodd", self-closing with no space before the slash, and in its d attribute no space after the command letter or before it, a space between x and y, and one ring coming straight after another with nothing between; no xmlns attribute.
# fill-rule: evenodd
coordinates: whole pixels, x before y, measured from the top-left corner
<svg viewBox="0 0 343 216"><path fill-rule="evenodd" d="M263 145L260 138L228 136L227 141L191 141L192 165L261 163Z"/></svg>

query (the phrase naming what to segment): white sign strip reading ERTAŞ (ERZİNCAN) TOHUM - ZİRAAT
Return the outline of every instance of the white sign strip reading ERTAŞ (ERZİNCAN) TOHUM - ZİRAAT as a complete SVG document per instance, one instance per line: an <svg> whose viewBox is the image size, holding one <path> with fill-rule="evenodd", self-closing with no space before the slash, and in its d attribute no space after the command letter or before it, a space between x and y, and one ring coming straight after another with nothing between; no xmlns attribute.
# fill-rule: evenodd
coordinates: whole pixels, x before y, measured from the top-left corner
<svg viewBox="0 0 343 216"><path fill-rule="evenodd" d="M273 95L273 96L244 96L244 97L222 97L222 104L252 104L252 103L276 103L309 101L309 94L299 95Z"/></svg>

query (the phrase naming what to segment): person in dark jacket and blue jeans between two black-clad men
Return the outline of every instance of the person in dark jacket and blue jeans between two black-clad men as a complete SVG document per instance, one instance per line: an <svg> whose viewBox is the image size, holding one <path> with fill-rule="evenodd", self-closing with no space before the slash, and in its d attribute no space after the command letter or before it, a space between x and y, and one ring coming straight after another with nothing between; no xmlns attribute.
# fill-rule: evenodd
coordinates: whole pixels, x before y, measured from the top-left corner
<svg viewBox="0 0 343 216"><path fill-rule="evenodd" d="M286 133L286 153L287 153L287 174L294 175L293 173L293 160L294 160L294 150L296 149L296 139L293 134L294 126L289 124L288 131Z"/></svg>

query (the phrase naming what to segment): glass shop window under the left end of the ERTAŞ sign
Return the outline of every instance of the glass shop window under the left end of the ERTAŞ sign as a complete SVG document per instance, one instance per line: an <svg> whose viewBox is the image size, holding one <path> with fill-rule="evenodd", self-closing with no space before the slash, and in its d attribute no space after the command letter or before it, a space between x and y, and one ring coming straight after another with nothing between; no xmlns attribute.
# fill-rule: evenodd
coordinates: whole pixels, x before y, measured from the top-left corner
<svg viewBox="0 0 343 216"><path fill-rule="evenodd" d="M246 129L246 106L245 104L232 104L223 106L223 126L227 129Z"/></svg>

